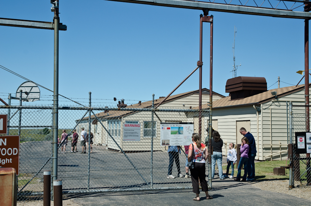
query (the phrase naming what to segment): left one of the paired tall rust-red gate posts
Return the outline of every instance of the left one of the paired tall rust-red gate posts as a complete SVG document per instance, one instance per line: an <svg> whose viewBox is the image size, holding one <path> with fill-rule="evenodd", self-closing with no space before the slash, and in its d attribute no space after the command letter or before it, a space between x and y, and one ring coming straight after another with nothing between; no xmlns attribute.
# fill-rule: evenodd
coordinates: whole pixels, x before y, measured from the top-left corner
<svg viewBox="0 0 311 206"><path fill-rule="evenodd" d="M203 33L203 15L200 15L200 63L202 64L202 33ZM202 65L200 65L199 74L199 136L202 139ZM204 142L204 141L203 141Z"/></svg>

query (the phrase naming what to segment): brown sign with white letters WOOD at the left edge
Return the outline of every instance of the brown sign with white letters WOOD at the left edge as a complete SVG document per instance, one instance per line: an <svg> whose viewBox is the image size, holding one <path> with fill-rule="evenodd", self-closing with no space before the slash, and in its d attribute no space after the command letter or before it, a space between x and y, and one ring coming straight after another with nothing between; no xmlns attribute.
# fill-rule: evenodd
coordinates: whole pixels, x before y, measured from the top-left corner
<svg viewBox="0 0 311 206"><path fill-rule="evenodd" d="M20 136L0 136L0 166L13 167L19 174Z"/></svg>

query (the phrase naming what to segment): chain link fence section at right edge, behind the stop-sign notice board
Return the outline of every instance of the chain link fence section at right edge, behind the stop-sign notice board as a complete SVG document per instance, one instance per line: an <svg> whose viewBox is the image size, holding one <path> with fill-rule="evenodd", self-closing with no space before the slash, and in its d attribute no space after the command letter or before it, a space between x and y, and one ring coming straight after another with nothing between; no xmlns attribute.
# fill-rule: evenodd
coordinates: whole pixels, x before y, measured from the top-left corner
<svg viewBox="0 0 311 206"><path fill-rule="evenodd" d="M296 140L295 132L305 132L306 131L306 115L305 113L293 112L293 180L295 181L295 186L305 186L311 185L310 176L310 155L309 154L299 154L296 152Z"/></svg>

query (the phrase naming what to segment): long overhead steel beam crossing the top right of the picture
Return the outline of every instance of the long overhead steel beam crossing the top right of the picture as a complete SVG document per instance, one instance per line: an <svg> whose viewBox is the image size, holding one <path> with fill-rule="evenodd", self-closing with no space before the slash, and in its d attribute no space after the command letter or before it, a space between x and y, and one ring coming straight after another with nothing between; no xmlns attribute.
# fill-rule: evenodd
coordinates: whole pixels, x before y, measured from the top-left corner
<svg viewBox="0 0 311 206"><path fill-rule="evenodd" d="M149 4L149 5L163 6L163 7L208 10L208 11L216 11L216 12L251 14L251 15L259 15L259 16L273 16L273 17L282 17L282 18L294 18L294 19L310 19L311 18L311 13L309 12L295 12L295 11L281 10L281 9L239 6L239 5L199 2L199 1L191 1L191 0L108 0L108 1Z"/></svg>

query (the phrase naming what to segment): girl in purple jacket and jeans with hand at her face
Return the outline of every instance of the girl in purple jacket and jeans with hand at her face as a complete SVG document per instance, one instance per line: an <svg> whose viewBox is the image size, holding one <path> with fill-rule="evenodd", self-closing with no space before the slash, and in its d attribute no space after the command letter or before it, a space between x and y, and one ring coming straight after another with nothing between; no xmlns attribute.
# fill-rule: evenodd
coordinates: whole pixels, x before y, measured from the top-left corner
<svg viewBox="0 0 311 206"><path fill-rule="evenodd" d="M248 151L249 151L249 142L246 137L242 138L242 143L240 147L240 161L238 165L238 175L234 179L235 181L240 181L241 180L241 168L244 164L244 176L243 179L241 180L242 182L246 182L246 176L247 176L247 162L248 162Z"/></svg>

